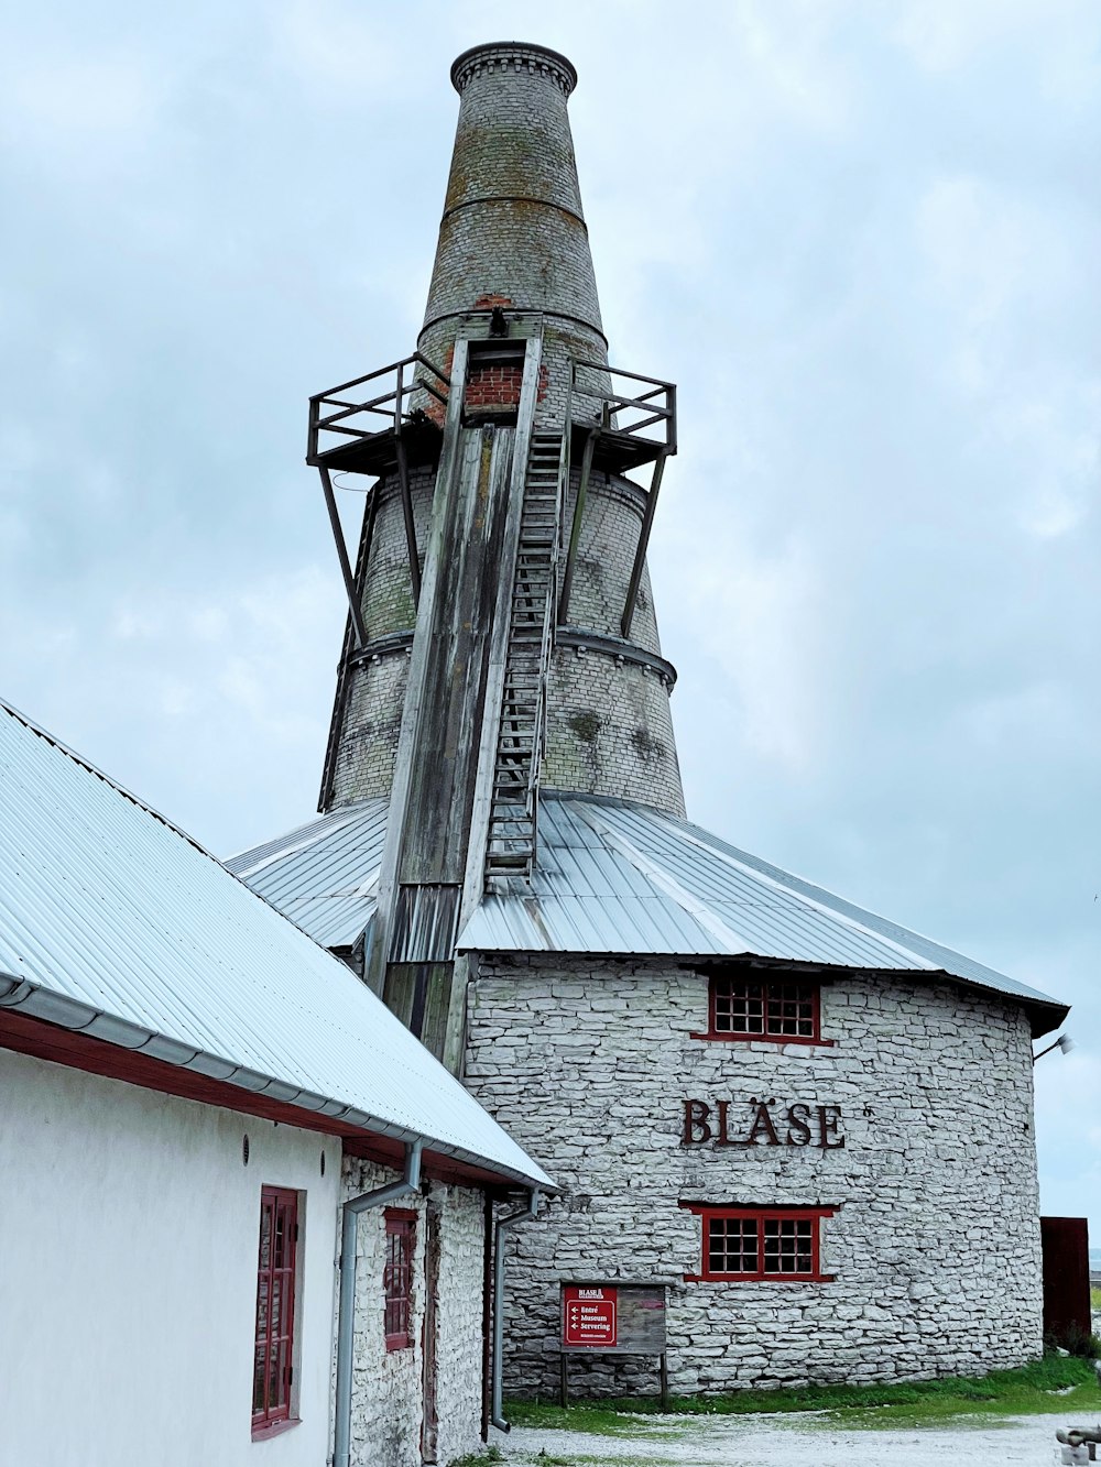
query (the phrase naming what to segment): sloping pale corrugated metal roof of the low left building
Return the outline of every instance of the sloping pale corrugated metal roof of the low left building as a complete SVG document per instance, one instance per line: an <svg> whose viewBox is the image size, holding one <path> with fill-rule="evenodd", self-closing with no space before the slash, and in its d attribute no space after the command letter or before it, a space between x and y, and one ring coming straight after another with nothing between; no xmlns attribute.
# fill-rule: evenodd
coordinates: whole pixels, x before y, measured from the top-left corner
<svg viewBox="0 0 1101 1467"><path fill-rule="evenodd" d="M333 863L371 849L373 814L348 844L317 822ZM549 1184L345 964L4 704L0 876L0 976L22 980L0 1005Z"/></svg>

